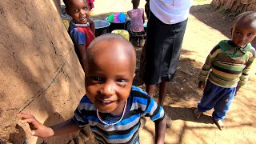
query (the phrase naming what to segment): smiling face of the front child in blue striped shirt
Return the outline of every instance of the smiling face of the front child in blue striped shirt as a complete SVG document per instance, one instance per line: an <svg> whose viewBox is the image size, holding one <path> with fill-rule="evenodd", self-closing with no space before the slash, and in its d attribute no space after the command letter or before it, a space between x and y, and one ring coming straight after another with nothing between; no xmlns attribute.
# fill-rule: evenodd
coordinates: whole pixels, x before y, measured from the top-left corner
<svg viewBox="0 0 256 144"><path fill-rule="evenodd" d="M102 113L121 114L134 78L134 57L114 40L94 48L94 58L86 66L86 94Z"/></svg>

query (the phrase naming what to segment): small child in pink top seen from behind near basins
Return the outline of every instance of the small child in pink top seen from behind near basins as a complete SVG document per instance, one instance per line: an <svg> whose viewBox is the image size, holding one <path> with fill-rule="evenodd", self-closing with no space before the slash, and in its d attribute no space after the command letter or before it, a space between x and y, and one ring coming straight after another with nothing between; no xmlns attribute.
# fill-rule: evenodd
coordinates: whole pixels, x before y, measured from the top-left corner
<svg viewBox="0 0 256 144"><path fill-rule="evenodd" d="M129 10L127 14L130 17L130 27L128 31L132 35L142 35L145 34L144 31L144 10L142 8L138 8L140 0L132 0L133 10Z"/></svg>

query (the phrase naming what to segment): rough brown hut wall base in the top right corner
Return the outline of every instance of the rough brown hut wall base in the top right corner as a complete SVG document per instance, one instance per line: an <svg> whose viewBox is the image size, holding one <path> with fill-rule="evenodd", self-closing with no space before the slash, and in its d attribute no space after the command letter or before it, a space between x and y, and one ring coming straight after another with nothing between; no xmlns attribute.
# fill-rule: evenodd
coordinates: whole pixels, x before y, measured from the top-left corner
<svg viewBox="0 0 256 144"><path fill-rule="evenodd" d="M256 0L213 0L211 5L222 10L231 10L235 13L255 11Z"/></svg>

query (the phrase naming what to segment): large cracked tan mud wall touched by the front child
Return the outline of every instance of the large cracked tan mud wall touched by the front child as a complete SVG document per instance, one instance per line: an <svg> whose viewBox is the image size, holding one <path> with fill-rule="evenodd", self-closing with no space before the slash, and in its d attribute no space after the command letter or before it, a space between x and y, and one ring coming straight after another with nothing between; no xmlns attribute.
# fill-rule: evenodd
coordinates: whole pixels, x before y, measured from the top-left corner
<svg viewBox="0 0 256 144"><path fill-rule="evenodd" d="M55 2L0 1L0 143L63 143L31 137L15 115L47 126L70 118L85 94L83 72Z"/></svg>

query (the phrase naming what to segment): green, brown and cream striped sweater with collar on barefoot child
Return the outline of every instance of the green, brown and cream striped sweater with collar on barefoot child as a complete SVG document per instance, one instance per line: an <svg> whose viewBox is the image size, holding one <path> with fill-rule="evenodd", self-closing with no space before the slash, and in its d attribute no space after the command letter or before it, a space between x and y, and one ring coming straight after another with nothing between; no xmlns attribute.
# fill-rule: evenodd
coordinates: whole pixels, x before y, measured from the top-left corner
<svg viewBox="0 0 256 144"><path fill-rule="evenodd" d="M221 87L243 86L249 78L249 71L255 58L255 49L248 43L244 48L234 46L230 40L223 40L210 51L198 81L210 82Z"/></svg>

